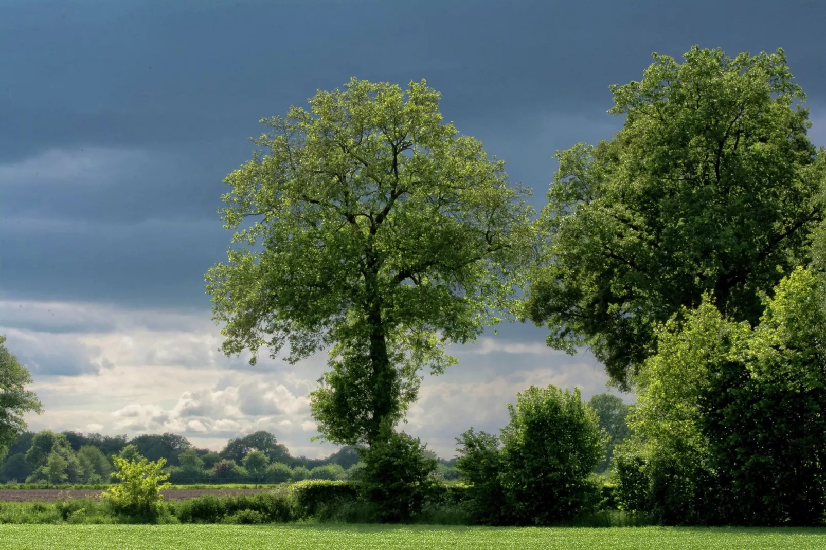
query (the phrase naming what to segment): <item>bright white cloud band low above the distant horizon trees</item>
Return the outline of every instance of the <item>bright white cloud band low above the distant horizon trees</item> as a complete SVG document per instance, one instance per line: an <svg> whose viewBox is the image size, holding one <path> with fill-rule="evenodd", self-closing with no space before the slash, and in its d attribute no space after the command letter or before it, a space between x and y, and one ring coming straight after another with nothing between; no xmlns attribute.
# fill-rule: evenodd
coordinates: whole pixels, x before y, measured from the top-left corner
<svg viewBox="0 0 826 550"><path fill-rule="evenodd" d="M265 429L292 453L316 457L334 449L310 442L317 430L307 393L325 369L324 353L297 365L263 353L259 365L249 367L246 358L217 351L221 335L208 313L0 301L0 319L12 353L36 365L31 387L45 413L29 417L30 429L173 432L215 449ZM401 429L449 457L453 439L465 429L496 433L505 425L508 403L531 384L581 386L586 398L605 391L604 369L590 355L549 349L541 331L532 338L500 334L451 346L458 365L443 376L425 377L420 400ZM45 358L61 358L75 368L49 370Z"/></svg>

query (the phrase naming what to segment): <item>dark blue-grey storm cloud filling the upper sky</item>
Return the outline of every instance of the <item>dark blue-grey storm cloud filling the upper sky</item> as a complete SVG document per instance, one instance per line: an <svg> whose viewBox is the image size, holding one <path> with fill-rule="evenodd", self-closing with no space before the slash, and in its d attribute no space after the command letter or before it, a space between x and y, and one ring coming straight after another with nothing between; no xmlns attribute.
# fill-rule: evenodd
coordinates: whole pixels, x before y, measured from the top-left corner
<svg viewBox="0 0 826 550"><path fill-rule="evenodd" d="M653 51L782 46L818 115L824 19L824 2L0 2L0 296L208 307L246 138L350 76L427 78L542 206L553 151L610 138L608 85Z"/></svg>

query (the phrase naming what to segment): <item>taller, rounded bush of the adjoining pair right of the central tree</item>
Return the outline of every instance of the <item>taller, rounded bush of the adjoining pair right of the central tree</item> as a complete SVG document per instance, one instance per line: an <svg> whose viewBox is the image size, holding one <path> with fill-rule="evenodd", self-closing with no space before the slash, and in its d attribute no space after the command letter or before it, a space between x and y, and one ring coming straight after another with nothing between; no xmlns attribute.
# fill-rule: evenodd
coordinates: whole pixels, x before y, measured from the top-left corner
<svg viewBox="0 0 826 550"><path fill-rule="evenodd" d="M550 524L596 506L590 479L607 436L579 388L530 386L508 405L501 483L516 521Z"/></svg>

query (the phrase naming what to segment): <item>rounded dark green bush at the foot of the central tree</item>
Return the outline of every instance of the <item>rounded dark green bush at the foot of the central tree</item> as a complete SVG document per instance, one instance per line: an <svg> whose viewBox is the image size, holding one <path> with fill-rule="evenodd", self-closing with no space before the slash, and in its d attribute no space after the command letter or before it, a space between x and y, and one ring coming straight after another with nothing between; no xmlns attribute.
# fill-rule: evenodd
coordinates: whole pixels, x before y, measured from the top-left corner
<svg viewBox="0 0 826 550"><path fill-rule="evenodd" d="M433 491L438 462L423 453L419 439L392 433L360 449L363 467L354 474L361 498L377 506L380 522L409 521Z"/></svg>

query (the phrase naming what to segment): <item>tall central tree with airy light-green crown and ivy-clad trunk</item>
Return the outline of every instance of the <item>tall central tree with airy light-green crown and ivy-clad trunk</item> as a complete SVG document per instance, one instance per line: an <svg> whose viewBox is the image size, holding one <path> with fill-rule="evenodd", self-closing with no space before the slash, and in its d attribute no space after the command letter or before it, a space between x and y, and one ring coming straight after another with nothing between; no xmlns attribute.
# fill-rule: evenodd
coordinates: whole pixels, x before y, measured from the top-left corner
<svg viewBox="0 0 826 550"><path fill-rule="evenodd" d="M263 122L268 149L225 179L229 263L207 273L223 350L297 362L331 346L311 394L320 432L372 443L415 400L444 344L499 320L531 252L525 189L459 136L424 81L355 78ZM254 221L248 223L248 218Z"/></svg>

